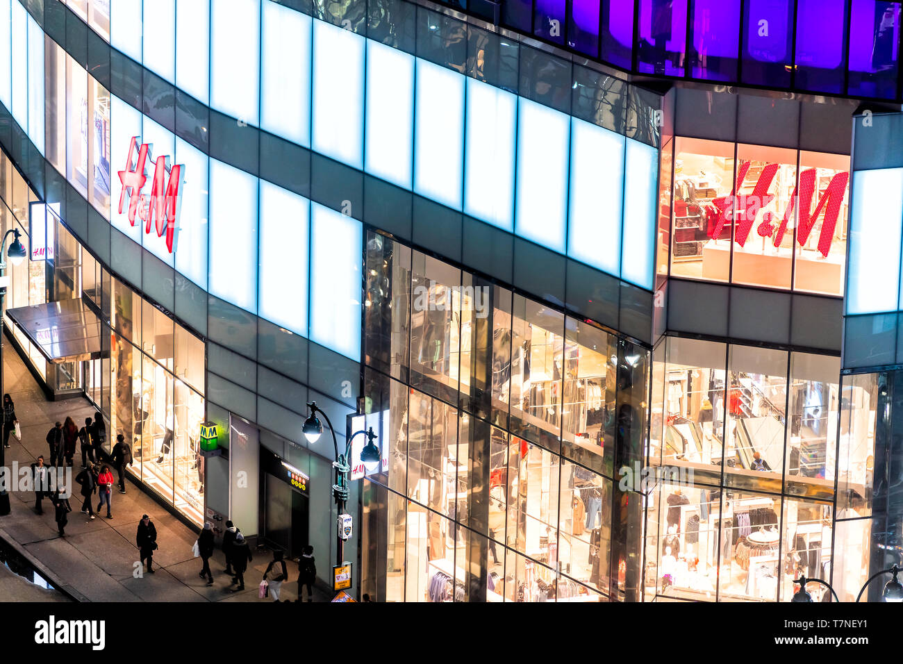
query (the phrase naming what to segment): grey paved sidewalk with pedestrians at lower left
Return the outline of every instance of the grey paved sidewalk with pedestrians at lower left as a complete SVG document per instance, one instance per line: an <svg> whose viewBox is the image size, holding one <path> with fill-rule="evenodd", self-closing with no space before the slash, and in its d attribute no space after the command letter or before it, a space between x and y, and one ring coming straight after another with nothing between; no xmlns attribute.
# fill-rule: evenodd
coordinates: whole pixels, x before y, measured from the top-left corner
<svg viewBox="0 0 903 664"><path fill-rule="evenodd" d="M79 426L85 417L94 416L95 409L87 399L72 398L47 401L23 360L8 344L4 352L5 390L15 402L16 415L22 427L22 442L10 436L6 450L6 464L14 461L30 466L38 454L48 454L44 438L53 423L71 416ZM79 472L76 454L73 472ZM75 487L78 489L78 486ZM90 520L79 511L81 499L70 498L72 512L61 538L53 520L50 500L43 500L43 514L34 511L32 492L11 491L12 512L0 517L0 528L8 538L21 545L43 566L57 575L61 586L70 594L88 602L258 602L257 585L266 565L272 559L269 551L253 551L254 560L245 574L246 590L230 593L230 578L223 574L225 558L219 549L210 561L214 585L207 586L199 576L201 562L191 554L197 538L191 528L164 510L135 482L128 482L127 493L113 491L113 519L98 516ZM94 497L92 500L97 500ZM96 505L95 505L96 507ZM155 574L136 574L143 570L135 547L135 531L142 514L149 514L157 528L154 552ZM289 580L283 585L283 598L294 600L297 593L298 569L287 561ZM0 581L2 588L2 581ZM328 601L319 588L314 599ZM271 600L265 600L271 601Z"/></svg>

